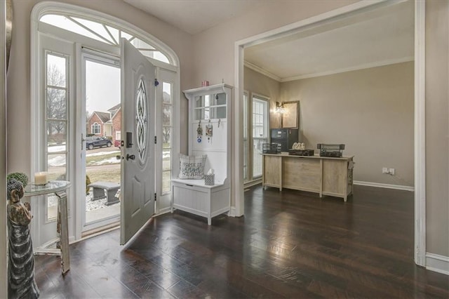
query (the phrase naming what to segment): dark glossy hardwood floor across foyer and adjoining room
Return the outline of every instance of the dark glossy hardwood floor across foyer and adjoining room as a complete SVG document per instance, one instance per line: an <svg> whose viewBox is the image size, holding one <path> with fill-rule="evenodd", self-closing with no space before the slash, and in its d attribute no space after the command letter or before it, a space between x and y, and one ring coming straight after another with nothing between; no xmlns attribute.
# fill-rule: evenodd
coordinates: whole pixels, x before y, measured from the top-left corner
<svg viewBox="0 0 449 299"><path fill-rule="evenodd" d="M127 246L119 230L72 244L65 277L36 255L41 298L449 298L449 277L413 262L413 192L245 196L241 218L176 211Z"/></svg>

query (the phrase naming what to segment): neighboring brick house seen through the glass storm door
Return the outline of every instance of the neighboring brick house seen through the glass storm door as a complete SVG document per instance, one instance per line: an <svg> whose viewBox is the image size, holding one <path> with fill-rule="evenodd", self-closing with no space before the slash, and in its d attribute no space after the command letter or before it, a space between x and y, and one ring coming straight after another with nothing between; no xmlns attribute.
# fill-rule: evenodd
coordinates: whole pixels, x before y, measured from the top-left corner
<svg viewBox="0 0 449 299"><path fill-rule="evenodd" d="M117 104L107 112L94 111L86 121L88 135L106 136L112 141L121 140L121 105Z"/></svg>

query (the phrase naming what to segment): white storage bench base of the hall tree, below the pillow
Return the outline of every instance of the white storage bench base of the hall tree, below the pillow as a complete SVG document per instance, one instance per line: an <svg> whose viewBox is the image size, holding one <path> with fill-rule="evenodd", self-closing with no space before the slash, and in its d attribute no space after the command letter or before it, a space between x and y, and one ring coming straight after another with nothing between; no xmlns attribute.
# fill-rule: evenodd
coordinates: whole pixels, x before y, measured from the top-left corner
<svg viewBox="0 0 449 299"><path fill-rule="evenodd" d="M229 212L230 188L220 182L215 185L204 185L204 180L180 180L173 179L171 211L178 208L208 219L211 225L212 218L222 213Z"/></svg>

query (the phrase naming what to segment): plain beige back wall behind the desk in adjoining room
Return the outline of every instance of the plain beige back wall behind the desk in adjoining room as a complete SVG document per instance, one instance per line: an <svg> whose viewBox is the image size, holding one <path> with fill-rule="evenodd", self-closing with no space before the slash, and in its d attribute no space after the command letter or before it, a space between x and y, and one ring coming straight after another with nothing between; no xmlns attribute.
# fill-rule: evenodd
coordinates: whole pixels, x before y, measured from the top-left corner
<svg viewBox="0 0 449 299"><path fill-rule="evenodd" d="M281 100L300 101L306 147L343 143L354 180L413 186L413 62L281 83ZM382 174L382 166L395 175Z"/></svg>

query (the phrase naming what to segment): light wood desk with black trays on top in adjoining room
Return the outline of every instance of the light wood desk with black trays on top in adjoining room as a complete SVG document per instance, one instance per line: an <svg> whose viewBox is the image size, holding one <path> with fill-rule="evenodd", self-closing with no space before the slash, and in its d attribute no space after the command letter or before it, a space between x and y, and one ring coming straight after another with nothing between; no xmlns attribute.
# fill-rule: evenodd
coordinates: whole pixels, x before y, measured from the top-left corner
<svg viewBox="0 0 449 299"><path fill-rule="evenodd" d="M352 193L354 156L331 158L264 154L262 186L342 197Z"/></svg>

